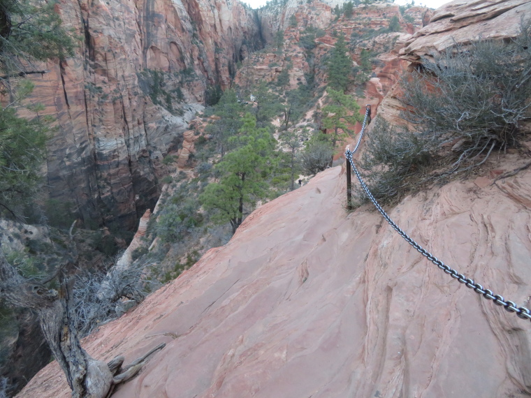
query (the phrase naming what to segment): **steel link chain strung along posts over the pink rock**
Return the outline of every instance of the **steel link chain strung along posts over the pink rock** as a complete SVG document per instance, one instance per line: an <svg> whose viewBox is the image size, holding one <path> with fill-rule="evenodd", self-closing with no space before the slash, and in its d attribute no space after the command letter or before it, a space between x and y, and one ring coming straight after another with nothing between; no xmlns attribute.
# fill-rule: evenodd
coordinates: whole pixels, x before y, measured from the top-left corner
<svg viewBox="0 0 531 398"><path fill-rule="evenodd" d="M358 169L356 168L356 165L354 165L354 161L352 160L352 155L356 153L358 150L358 147L361 142L361 138L363 138L363 133L365 131L365 124L367 122L367 119L370 115L370 105L367 105L365 108L365 119L363 119L363 125L361 126L361 131L359 133L358 142L356 143L356 147L354 148L354 151L350 151L347 149L345 152L345 156L348 159L349 163L351 164L352 168L354 169L354 173L356 174L356 177L358 177L358 180L361 184L361 187L363 188L363 191L367 193L367 196L369 197L372 204L377 208L377 210L380 212L382 216L384 216L384 219L389 223L393 229L398 232L400 236L402 236L407 243L411 244L416 251L421 253L425 258L428 258L432 263L437 265L441 270L446 272L446 274L449 274L453 279L457 279L460 281L460 283L464 283L467 288L474 289L474 292L480 294L485 298L486 300L493 300L493 302L497 305L503 306L504 309L506 309L509 312L514 312L516 315L518 315L522 319L528 319L531 320L531 311L525 307L518 307L516 303L510 301L510 300L504 300L504 298L501 295L495 295L492 290L483 288L479 283L474 282L473 279L465 277L465 275L458 273L456 270L453 270L453 268L449 267L448 265L444 264L441 260L439 260L437 257L433 256L432 253L426 251L423 249L423 247L416 243L407 233L405 233L403 230L401 230L391 219L390 216L384 211L384 209L381 208L377 200L372 196L372 193L370 193L367 184L363 181L361 178L360 173L358 172Z"/></svg>

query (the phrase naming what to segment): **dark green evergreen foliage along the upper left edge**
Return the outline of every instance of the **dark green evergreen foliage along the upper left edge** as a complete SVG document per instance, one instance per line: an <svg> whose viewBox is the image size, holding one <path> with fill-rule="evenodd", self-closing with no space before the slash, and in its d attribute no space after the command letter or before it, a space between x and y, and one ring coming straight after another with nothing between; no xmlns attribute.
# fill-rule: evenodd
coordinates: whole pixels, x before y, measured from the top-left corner
<svg viewBox="0 0 531 398"><path fill-rule="evenodd" d="M30 82L20 78L46 73L34 68L35 61L64 59L73 55L74 45L54 13L54 2L34 6L26 1L1 1L0 92L10 101L0 107L0 207L13 216L37 191L49 121L39 117L39 105L27 107L33 111L33 119L17 116L16 109L33 89Z"/></svg>

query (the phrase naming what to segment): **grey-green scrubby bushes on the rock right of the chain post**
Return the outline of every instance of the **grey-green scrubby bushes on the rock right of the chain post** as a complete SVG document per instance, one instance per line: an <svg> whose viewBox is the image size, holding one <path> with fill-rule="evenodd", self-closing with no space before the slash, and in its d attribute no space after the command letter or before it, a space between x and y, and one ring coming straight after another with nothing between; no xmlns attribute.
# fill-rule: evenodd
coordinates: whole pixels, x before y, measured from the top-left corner
<svg viewBox="0 0 531 398"><path fill-rule="evenodd" d="M361 161L377 200L391 202L423 184L470 172L493 150L517 147L530 119L531 28L509 43L479 40L423 59L402 78L402 118L377 118ZM365 200L365 194L358 192Z"/></svg>

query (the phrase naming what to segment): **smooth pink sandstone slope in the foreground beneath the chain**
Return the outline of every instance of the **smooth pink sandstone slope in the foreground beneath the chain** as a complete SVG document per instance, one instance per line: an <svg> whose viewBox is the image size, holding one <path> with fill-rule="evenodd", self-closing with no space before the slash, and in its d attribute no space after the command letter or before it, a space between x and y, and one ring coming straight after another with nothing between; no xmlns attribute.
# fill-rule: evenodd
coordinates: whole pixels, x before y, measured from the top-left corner
<svg viewBox="0 0 531 398"><path fill-rule="evenodd" d="M514 164L498 165L512 170ZM451 182L390 209L417 242L529 307L531 171ZM421 257L341 168L252 213L226 246L87 337L126 362L166 342L113 397L525 397L529 321ZM19 397L69 397L57 364Z"/></svg>

